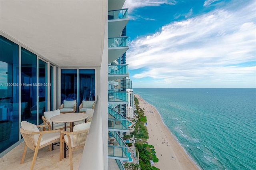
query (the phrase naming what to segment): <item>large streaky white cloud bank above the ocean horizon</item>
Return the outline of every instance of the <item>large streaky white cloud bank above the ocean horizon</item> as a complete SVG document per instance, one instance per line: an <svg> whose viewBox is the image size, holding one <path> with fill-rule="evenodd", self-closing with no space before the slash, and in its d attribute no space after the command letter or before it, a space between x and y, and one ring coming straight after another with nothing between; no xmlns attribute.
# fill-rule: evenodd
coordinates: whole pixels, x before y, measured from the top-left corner
<svg viewBox="0 0 256 170"><path fill-rule="evenodd" d="M240 65L256 62L255 6L252 2L240 10L214 10L133 40L126 52L129 69L144 71L132 78L152 77L162 86L246 81L256 87L256 67Z"/></svg>

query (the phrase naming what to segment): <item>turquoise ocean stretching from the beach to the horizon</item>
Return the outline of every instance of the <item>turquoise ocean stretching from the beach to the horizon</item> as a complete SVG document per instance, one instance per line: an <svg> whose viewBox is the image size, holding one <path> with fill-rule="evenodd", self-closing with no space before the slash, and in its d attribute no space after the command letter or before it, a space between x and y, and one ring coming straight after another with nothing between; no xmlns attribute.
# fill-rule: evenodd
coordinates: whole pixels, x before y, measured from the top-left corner
<svg viewBox="0 0 256 170"><path fill-rule="evenodd" d="M201 169L256 170L256 89L133 90Z"/></svg>

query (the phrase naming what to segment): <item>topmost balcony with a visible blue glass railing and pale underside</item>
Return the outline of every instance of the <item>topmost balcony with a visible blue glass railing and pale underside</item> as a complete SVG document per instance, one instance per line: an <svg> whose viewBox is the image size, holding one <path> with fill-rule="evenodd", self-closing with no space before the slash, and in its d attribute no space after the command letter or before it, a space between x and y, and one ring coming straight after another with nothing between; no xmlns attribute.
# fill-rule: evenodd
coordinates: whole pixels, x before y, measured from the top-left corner
<svg viewBox="0 0 256 170"><path fill-rule="evenodd" d="M116 37L120 35L128 23L128 8L108 11L108 36Z"/></svg>

